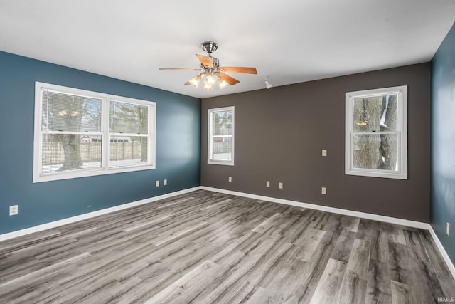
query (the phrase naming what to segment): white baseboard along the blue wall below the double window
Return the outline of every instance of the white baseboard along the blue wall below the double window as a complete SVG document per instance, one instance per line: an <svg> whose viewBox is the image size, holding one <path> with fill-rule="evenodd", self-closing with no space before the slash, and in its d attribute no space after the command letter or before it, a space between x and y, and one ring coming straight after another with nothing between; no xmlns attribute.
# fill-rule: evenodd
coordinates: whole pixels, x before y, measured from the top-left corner
<svg viewBox="0 0 455 304"><path fill-rule="evenodd" d="M172 197L172 196L177 196L177 195L180 195L180 194L186 194L188 192L193 192L193 191L200 190L200 189L201 189L201 187L193 187L193 188L189 188L189 189L183 189L183 190L176 191L176 192L171 192L171 193L168 193L168 194L154 196L154 197L151 197L149 199L141 199L140 201L132 201L131 203L122 204L122 205L119 205L119 206L113 206L113 207L110 207L110 208L101 209L101 210L89 212L89 213L86 213L86 214L80 214L78 216L71 216L71 217L68 217L66 219L60 219L58 221L51 221L49 223L41 224L41 225L38 225L38 226L33 226L33 227L30 227L30 228L21 229L21 230L17 230L17 231L12 231L12 232L9 232L7 234L0 234L0 241L13 239L13 238L16 238L17 236L24 236L26 234L33 234L33 232L38 232L38 231L43 231L43 230L47 230L47 229L52 229L52 228L55 228L55 227L58 227L58 226L66 225L66 224L71 224L71 223L74 223L76 221L82 221L83 219L91 219L92 217L95 217L95 216L100 216L100 215L108 214L108 213L111 213L111 212L114 212L114 211L119 211L119 210L123 210L123 209L132 208L134 206L140 206L140 205L143 205L143 204L149 204L149 203L154 202L154 201L159 201L160 199L167 199L167 198Z"/></svg>

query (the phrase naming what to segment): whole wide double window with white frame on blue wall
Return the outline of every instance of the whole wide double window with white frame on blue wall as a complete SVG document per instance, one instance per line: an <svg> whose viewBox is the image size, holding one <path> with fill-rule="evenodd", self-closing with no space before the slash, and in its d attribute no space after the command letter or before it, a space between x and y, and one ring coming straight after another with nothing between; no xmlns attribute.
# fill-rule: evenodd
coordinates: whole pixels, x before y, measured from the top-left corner
<svg viewBox="0 0 455 304"><path fill-rule="evenodd" d="M35 85L33 182L155 167L156 103Z"/></svg>

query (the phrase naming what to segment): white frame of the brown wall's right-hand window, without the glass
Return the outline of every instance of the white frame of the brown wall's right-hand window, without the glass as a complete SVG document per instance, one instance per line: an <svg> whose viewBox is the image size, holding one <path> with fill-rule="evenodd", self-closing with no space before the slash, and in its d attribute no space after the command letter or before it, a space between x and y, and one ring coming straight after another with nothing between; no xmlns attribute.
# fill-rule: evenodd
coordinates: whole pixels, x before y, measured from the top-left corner
<svg viewBox="0 0 455 304"><path fill-rule="evenodd" d="M398 169L360 169L353 168L353 110L355 98L368 98L378 95L397 94L397 162ZM375 132L387 134L390 132ZM363 132L365 134L365 132ZM361 90L346 93L346 142L345 142L345 174L364 177L384 177L390 179L407 179L407 85L380 88L375 90Z"/></svg>

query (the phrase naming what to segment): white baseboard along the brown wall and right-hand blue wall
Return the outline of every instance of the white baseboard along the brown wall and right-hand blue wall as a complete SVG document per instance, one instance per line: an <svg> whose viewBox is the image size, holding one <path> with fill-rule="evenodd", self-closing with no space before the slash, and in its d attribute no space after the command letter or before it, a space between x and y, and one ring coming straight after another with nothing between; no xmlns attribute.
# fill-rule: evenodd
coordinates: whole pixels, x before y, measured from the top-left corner
<svg viewBox="0 0 455 304"><path fill-rule="evenodd" d="M205 186L202 186L201 188L204 190L213 191L213 192L220 192L220 193L224 193L224 194L243 196L243 197L247 197L250 199L260 199L263 201L272 201L274 203L279 203L279 204L298 206L298 207L303 207L303 208L308 208L308 209L316 209L316 210L331 212L331 213L335 213L335 214L343 214L343 215L347 215L347 216L355 216L355 217L360 217L362 219L372 219L374 221L384 221L386 223L414 227L414 228L418 228L418 229L426 229L430 232L430 234L432 234L434 243L436 243L436 245L439 249L439 252L441 253L442 258L444 258L447 268L449 268L449 271L451 272L452 276L455 278L454 263L452 263L451 259L449 258L449 255L447 254L446 250L444 249L444 246L442 246L441 241L439 241L436 233L434 232L434 230L432 228L432 225L430 225L428 223L422 223L420 221L410 221L407 219L397 219L397 218L391 217L391 216L369 214L369 213L365 213L365 212L351 211L351 210L339 209L339 208L333 208L333 207L327 207L327 206L319 206L319 205L315 205L315 204L302 203L300 201L289 201L287 199L277 199L277 198L269 197L269 196L262 196L262 195L249 194L249 193L243 193L243 192L235 192L235 191L225 190L225 189L211 188L211 187L205 187Z"/></svg>

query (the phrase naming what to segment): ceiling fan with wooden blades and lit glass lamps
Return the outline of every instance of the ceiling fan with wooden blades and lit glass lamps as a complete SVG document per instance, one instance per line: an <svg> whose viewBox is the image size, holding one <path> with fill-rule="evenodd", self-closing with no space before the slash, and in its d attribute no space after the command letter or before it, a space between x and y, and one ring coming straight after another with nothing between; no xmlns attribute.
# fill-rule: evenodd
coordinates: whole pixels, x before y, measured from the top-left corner
<svg viewBox="0 0 455 304"><path fill-rule="evenodd" d="M225 88L226 85L235 85L240 81L230 77L226 73L246 73L257 74L256 68L246 68L239 66L220 66L218 58L212 57L212 53L217 50L218 45L213 41L205 41L200 45L203 51L208 53L208 56L196 54L200 61L200 68L160 68L159 70L202 70L202 73L188 80L185 85L193 85L198 88L200 80L204 79L204 90L213 90L213 85L218 82L220 88Z"/></svg>

